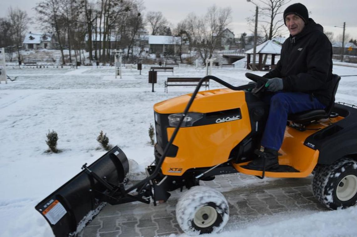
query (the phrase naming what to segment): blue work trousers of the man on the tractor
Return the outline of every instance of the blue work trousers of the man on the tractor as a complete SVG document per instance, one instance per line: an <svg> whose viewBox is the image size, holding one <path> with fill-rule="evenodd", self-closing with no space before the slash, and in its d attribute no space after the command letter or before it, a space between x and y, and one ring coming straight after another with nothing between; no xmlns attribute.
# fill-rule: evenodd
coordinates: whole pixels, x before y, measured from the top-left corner
<svg viewBox="0 0 357 237"><path fill-rule="evenodd" d="M288 114L326 107L315 97L301 92L277 92L266 95L264 101L270 104L270 109L261 145L274 150L279 150L283 143Z"/></svg>

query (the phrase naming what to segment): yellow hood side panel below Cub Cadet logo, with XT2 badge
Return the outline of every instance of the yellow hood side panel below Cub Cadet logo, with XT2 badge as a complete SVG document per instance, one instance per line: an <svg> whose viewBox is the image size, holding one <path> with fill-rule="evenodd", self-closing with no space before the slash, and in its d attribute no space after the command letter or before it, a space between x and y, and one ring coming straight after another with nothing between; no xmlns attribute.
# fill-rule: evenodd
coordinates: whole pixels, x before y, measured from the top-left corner
<svg viewBox="0 0 357 237"><path fill-rule="evenodd" d="M181 127L173 142L178 146L177 155L165 158L161 166L162 173L181 176L190 168L212 167L227 161L233 147L251 131L247 105L244 103L234 107L240 107L242 119L204 126ZM173 127L167 128L169 140L174 130ZM175 171L180 172L169 172L170 168L171 171L175 168Z"/></svg>

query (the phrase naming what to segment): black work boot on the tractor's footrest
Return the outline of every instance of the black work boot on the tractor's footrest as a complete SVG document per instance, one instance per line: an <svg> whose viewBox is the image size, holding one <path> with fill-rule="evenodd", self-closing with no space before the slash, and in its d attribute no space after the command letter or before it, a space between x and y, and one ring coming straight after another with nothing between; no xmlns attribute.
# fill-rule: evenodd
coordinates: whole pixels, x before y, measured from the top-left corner
<svg viewBox="0 0 357 237"><path fill-rule="evenodd" d="M247 168L250 170L263 170L264 156L265 156L265 170L268 170L270 168L276 168L279 166L277 150L265 148L263 153L264 154L259 156L257 160L253 160L250 163L248 163Z"/></svg>

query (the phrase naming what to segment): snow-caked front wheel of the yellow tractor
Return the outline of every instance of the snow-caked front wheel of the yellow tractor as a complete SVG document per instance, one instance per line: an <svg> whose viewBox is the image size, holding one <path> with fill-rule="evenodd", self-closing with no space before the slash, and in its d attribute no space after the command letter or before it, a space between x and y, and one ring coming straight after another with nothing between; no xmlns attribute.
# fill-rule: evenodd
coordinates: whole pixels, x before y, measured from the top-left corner
<svg viewBox="0 0 357 237"><path fill-rule="evenodd" d="M228 218L226 198L210 187L191 187L176 205L176 220L188 235L216 233L227 224Z"/></svg>

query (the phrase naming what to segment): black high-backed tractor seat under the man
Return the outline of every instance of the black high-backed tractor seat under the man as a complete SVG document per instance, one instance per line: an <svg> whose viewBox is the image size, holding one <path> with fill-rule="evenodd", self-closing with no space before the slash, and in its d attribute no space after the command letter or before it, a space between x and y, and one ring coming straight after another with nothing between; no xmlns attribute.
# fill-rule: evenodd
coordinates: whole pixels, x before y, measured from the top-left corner
<svg viewBox="0 0 357 237"><path fill-rule="evenodd" d="M288 121L306 125L312 121L330 118L332 116L331 115L332 108L335 105L335 95L340 80L341 80L340 76L336 74L332 74L333 91L331 96L331 102L330 105L328 105L325 110L308 110L296 114L290 114L288 115Z"/></svg>

